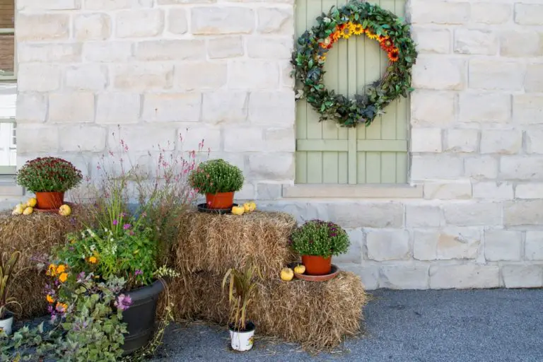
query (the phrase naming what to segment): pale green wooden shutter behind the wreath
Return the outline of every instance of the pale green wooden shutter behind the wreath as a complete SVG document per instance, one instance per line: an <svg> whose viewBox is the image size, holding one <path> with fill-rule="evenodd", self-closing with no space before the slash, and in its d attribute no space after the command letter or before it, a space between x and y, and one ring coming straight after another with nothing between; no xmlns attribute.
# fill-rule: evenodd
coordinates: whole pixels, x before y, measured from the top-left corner
<svg viewBox="0 0 543 362"><path fill-rule="evenodd" d="M373 1L404 16L406 0ZM296 36L315 25L321 13L341 0L296 0ZM340 40L325 64L325 82L345 95L363 93L364 86L380 78L388 64L378 42L365 36ZM407 126L409 100L390 104L370 127L337 127L318 122L304 100L296 105L296 182L308 184L407 183Z"/></svg>

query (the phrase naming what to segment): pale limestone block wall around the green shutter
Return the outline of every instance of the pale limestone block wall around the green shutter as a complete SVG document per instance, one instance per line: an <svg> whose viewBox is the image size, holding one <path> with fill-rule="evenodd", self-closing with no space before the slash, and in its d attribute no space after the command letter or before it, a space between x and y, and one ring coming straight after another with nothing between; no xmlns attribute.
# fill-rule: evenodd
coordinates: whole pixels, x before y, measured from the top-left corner
<svg viewBox="0 0 543 362"><path fill-rule="evenodd" d="M348 228L336 261L368 288L542 286L543 4L408 7L411 185L293 185L290 0L18 0L19 160L92 175L117 124L134 158L205 139L247 175L238 198Z"/></svg>

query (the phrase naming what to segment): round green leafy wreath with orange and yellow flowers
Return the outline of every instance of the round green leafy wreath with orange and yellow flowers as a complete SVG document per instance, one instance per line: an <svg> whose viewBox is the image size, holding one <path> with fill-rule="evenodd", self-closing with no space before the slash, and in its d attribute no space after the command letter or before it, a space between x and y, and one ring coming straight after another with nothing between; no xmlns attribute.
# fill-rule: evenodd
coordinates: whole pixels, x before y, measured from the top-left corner
<svg viewBox="0 0 543 362"><path fill-rule="evenodd" d="M326 88L326 55L335 42L365 34L377 40L387 52L389 65L382 78L366 86L366 94L349 99ZM320 121L334 119L343 127L369 126L400 95L407 97L411 88L411 66L416 49L409 25L380 6L354 0L317 18L317 25L298 38L292 54L293 75L301 87L297 99L305 98L320 114Z"/></svg>

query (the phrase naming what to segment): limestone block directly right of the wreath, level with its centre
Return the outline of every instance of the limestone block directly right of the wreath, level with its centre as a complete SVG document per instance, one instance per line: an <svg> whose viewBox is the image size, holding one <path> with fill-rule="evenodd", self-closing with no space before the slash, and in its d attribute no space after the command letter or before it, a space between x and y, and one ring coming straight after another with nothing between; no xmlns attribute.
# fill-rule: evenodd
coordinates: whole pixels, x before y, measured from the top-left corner
<svg viewBox="0 0 543 362"><path fill-rule="evenodd" d="M464 59L419 56L413 66L414 88L460 91L466 86Z"/></svg>

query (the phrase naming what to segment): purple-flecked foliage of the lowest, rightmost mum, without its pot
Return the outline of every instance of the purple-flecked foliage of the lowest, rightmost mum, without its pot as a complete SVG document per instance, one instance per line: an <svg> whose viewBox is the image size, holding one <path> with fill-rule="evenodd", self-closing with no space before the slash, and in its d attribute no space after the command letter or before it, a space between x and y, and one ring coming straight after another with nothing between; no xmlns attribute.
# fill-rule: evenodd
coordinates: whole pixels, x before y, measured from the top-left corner
<svg viewBox="0 0 543 362"><path fill-rule="evenodd" d="M335 223L310 220L296 228L289 244L300 255L330 257L349 250L349 235Z"/></svg>

